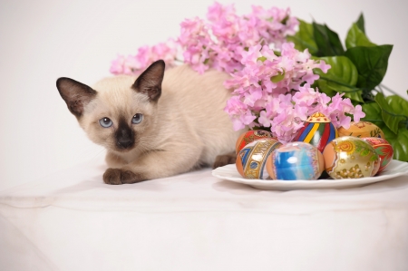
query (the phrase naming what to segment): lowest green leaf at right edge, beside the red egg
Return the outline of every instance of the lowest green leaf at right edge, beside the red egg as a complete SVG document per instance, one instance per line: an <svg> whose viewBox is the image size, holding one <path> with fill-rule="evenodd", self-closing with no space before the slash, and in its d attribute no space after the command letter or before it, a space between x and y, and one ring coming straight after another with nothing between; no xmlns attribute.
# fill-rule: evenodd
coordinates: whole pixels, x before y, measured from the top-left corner
<svg viewBox="0 0 408 271"><path fill-rule="evenodd" d="M380 127L384 131L385 140L393 146L393 159L408 161L408 130L400 128L394 133L388 127Z"/></svg>

